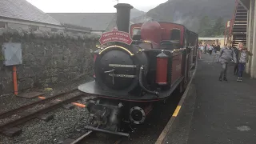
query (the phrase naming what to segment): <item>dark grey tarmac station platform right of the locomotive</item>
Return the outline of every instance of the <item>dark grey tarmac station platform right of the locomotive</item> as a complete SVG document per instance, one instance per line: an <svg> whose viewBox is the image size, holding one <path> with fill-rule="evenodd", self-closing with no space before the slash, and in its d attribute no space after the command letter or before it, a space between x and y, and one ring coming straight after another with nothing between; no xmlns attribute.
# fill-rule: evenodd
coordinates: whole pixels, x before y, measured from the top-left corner
<svg viewBox="0 0 256 144"><path fill-rule="evenodd" d="M221 66L213 55L203 54L191 86L195 92L174 120L162 143L254 144L256 142L256 80L244 74L218 81ZM196 95L195 95L196 94ZM194 95L194 96L193 96Z"/></svg>

